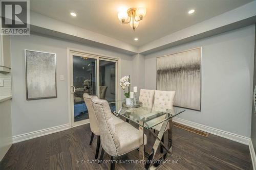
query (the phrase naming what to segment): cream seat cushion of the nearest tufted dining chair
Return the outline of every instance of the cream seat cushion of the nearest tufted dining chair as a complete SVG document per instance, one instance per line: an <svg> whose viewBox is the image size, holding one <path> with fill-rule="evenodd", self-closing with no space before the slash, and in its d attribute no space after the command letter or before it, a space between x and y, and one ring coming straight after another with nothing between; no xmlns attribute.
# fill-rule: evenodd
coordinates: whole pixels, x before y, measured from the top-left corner
<svg viewBox="0 0 256 170"><path fill-rule="evenodd" d="M142 135L138 129L130 125L129 123L122 123L115 125L116 136L118 136L120 142L120 148L118 155L131 152L136 148L139 148L142 142L140 139ZM146 135L144 134L144 144L146 144Z"/></svg>

